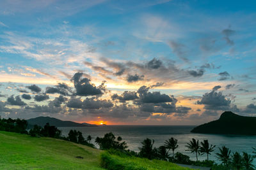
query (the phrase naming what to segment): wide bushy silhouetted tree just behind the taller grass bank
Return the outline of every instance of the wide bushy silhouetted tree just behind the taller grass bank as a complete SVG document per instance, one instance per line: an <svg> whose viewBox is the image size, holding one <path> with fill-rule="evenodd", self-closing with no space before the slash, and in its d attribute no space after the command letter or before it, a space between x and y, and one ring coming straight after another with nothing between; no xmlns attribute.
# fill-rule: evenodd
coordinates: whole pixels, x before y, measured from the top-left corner
<svg viewBox="0 0 256 170"><path fill-rule="evenodd" d="M95 143L97 143L102 150L110 148L125 150L125 148L128 147L125 141L121 143L120 141L116 141L115 139L115 135L112 132L109 132L104 135L104 138L97 137L95 139Z"/></svg>

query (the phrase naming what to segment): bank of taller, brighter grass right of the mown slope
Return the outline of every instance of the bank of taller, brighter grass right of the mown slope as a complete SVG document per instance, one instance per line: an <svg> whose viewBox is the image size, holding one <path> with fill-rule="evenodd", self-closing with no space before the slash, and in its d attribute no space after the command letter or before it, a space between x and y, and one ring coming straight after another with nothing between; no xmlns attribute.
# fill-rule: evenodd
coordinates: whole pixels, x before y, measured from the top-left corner
<svg viewBox="0 0 256 170"><path fill-rule="evenodd" d="M111 152L102 152L100 154L102 167L109 170L186 170L189 168L180 167L171 162L163 160L148 160L138 157L130 157L122 154L111 154Z"/></svg>

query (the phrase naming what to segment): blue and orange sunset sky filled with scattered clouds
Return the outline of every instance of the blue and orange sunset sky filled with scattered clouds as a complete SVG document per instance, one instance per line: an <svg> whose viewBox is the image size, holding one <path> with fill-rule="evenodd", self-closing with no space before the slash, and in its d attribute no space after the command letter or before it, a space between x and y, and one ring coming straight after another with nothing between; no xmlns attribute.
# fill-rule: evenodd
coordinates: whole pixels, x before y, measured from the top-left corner
<svg viewBox="0 0 256 170"><path fill-rule="evenodd" d="M198 125L256 113L256 1L0 1L0 115Z"/></svg>

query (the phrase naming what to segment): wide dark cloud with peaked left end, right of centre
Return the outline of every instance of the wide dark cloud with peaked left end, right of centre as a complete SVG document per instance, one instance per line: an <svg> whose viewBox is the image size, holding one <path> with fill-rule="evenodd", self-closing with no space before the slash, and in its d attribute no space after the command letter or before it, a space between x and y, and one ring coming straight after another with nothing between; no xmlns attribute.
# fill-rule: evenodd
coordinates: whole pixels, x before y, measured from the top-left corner
<svg viewBox="0 0 256 170"><path fill-rule="evenodd" d="M160 92L148 92L149 87L142 86L138 89L138 94L140 94L141 103L166 103L173 102L175 98L168 96L166 94L161 94Z"/></svg>

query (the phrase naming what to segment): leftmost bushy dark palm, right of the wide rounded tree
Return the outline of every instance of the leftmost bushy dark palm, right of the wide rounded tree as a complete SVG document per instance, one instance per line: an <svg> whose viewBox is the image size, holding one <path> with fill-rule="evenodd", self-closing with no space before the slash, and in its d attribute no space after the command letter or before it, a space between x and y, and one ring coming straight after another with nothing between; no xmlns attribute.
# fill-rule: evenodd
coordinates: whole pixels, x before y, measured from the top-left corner
<svg viewBox="0 0 256 170"><path fill-rule="evenodd" d="M156 156L156 148L153 148L154 142L154 140L148 138L141 142L142 146L141 148L139 148L139 155L147 159L154 159L154 157Z"/></svg>

